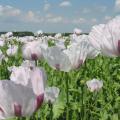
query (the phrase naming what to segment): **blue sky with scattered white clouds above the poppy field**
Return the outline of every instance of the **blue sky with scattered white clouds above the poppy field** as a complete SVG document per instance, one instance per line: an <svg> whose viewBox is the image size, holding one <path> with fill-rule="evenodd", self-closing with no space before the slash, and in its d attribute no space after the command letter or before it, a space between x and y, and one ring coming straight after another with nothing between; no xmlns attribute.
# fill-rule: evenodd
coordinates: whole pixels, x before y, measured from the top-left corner
<svg viewBox="0 0 120 120"><path fill-rule="evenodd" d="M89 32L120 13L120 0L0 0L0 31Z"/></svg>

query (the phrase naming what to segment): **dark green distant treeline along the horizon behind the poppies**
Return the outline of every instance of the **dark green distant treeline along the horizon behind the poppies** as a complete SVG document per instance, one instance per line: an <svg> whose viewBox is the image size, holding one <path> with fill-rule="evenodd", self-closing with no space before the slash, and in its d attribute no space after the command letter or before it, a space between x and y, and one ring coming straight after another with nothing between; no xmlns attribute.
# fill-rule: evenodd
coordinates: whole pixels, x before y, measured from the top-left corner
<svg viewBox="0 0 120 120"><path fill-rule="evenodd" d="M6 32L0 32L1 34L5 34ZM54 36L56 33L44 33L43 35L45 36ZM63 36L69 36L72 33L62 33ZM88 33L84 33L84 34L88 34ZM19 36L19 37L24 37L24 36L34 36L33 32L28 32L28 31L23 31L23 32L13 32L13 36Z"/></svg>

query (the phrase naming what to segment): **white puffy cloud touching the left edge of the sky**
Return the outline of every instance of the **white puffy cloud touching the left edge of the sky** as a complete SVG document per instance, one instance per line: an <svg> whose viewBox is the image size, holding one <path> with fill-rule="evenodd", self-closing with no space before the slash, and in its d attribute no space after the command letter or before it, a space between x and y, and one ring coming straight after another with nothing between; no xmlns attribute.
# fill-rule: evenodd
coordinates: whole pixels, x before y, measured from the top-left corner
<svg viewBox="0 0 120 120"><path fill-rule="evenodd" d="M0 5L0 16L18 16L20 15L20 13L21 11L17 8L14 8L9 5L6 6Z"/></svg>

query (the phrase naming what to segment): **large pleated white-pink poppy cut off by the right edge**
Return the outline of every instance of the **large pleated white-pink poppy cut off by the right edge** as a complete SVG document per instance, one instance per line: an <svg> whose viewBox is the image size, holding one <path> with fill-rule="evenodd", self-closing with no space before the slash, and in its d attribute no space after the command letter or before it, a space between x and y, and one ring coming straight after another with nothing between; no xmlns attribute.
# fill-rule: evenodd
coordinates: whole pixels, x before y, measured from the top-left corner
<svg viewBox="0 0 120 120"><path fill-rule="evenodd" d="M89 39L96 49L109 57L120 56L120 16L92 30Z"/></svg>

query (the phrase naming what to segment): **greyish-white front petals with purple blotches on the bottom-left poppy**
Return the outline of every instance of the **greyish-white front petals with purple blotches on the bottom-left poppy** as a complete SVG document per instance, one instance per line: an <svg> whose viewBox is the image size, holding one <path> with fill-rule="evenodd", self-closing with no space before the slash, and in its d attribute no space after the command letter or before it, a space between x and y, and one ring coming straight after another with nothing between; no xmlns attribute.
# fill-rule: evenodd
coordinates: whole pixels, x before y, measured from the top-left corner
<svg viewBox="0 0 120 120"><path fill-rule="evenodd" d="M0 119L31 116L40 108L44 95L36 96L30 87L0 80Z"/></svg>

